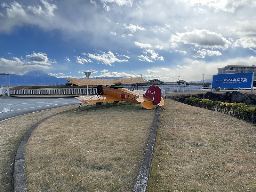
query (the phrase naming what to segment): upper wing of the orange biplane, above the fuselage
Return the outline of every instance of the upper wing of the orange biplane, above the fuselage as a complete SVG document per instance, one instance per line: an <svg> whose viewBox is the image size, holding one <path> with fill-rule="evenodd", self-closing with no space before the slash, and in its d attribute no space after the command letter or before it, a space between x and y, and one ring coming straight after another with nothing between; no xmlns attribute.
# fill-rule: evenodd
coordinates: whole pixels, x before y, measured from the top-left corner
<svg viewBox="0 0 256 192"><path fill-rule="evenodd" d="M83 85L115 85L115 84L137 84L148 83L149 81L141 77L123 78L123 79L74 79L68 78L69 82L83 86Z"/></svg>

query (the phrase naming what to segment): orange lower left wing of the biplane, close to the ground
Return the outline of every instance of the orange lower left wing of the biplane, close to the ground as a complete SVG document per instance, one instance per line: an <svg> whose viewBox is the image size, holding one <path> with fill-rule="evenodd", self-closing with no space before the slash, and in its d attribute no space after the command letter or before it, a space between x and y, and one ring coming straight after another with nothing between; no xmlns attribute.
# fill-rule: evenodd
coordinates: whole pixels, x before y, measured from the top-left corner
<svg viewBox="0 0 256 192"><path fill-rule="evenodd" d="M93 95L93 96L79 96L75 97L79 101L85 103L99 103L99 102L108 102L108 101L119 101L116 97L112 95Z"/></svg>

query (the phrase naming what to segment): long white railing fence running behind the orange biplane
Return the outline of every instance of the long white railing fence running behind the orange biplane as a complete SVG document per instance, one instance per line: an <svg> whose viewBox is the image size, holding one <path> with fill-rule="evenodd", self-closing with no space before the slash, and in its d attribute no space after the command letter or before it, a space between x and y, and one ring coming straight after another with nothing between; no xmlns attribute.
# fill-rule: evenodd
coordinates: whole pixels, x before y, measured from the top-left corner
<svg viewBox="0 0 256 192"><path fill-rule="evenodd" d="M163 86L158 85L161 89L161 93L174 93L174 92L194 92L194 91L202 91L202 87L185 87L185 86ZM132 90L132 88L125 87L128 90ZM147 91L149 86L138 86L139 90ZM137 90L137 87L134 88ZM88 94L96 94L95 89L88 89ZM0 91L0 96L9 96L10 95L81 95L87 94L87 89L84 88L74 88L74 89L21 89L21 90L10 90L8 93L8 89L4 91Z"/></svg>

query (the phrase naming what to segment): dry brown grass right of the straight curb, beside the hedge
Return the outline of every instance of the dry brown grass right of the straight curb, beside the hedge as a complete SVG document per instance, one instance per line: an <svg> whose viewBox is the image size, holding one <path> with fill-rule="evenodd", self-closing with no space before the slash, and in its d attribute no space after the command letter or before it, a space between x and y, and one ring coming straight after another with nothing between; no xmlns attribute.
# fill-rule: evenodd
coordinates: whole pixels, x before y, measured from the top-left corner
<svg viewBox="0 0 256 192"><path fill-rule="evenodd" d="M256 191L256 127L165 100L149 192Z"/></svg>

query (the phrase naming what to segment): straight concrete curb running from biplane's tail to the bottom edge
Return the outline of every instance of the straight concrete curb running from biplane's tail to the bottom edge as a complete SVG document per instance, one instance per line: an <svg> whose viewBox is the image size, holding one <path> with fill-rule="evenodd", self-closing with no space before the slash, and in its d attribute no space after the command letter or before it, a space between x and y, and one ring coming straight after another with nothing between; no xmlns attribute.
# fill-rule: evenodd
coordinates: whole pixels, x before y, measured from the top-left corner
<svg viewBox="0 0 256 192"><path fill-rule="evenodd" d="M151 172L152 159L154 155L154 149L156 144L156 135L158 129L158 123L160 118L161 107L157 108L155 120L148 138L148 144L145 149L142 161L140 163L140 169L133 187L133 192L146 192L148 187L149 176Z"/></svg>

